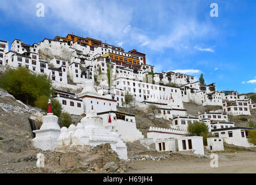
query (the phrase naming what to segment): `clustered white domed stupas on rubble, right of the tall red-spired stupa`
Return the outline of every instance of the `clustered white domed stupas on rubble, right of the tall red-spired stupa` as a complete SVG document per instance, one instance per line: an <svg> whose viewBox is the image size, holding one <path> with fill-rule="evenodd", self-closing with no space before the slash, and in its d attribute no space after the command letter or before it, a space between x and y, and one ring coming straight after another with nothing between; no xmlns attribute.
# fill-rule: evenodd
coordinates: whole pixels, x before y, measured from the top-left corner
<svg viewBox="0 0 256 185"><path fill-rule="evenodd" d="M120 136L114 131L114 125L103 127L103 118L97 116L93 110L87 111L86 117L83 117L81 123L78 123L76 128L61 129L60 137L58 138L58 146L63 145L91 145L97 146L104 143L109 143L112 150L118 153L119 158L127 159L127 147L120 139ZM75 130L75 131L74 131ZM74 132L72 132L74 131Z"/></svg>

